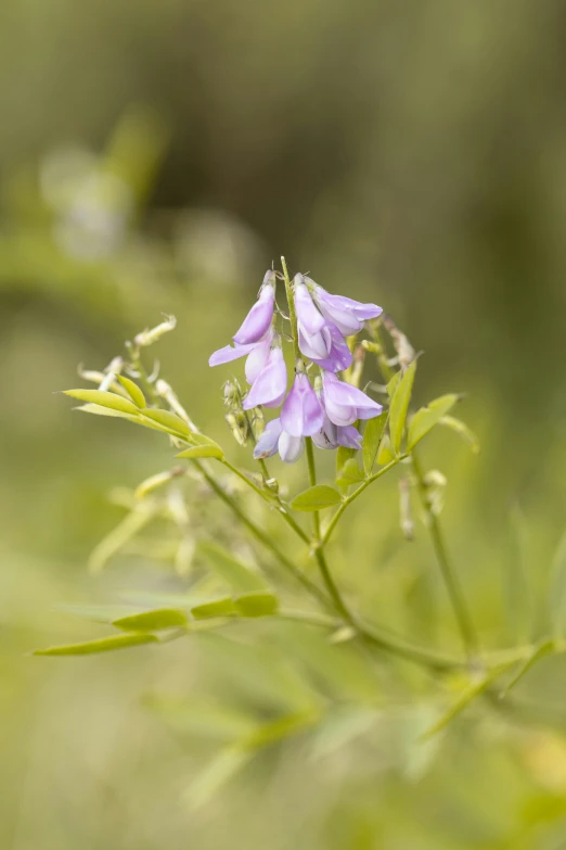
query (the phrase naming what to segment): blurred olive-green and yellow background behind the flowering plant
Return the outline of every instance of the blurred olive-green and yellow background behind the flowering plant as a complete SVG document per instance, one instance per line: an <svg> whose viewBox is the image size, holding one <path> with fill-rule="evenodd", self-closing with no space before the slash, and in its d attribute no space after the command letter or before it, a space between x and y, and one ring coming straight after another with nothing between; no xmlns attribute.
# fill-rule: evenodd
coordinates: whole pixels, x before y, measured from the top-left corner
<svg viewBox="0 0 566 850"><path fill-rule="evenodd" d="M439 698L426 677L396 709L388 665L329 655L308 630L27 655L99 634L60 602L185 581L143 545L89 576L124 516L115 489L171 449L52 393L173 313L163 373L230 445L230 367L209 372L208 354L282 253L384 305L425 353L420 402L467 393L480 455L448 432L423 448L448 478L449 546L486 646L516 639L517 617L543 632L566 496L565 4L4 0L1 20L0 846L566 847L559 658L517 688L541 710L478 707L424 747ZM213 511L205 536L228 523ZM413 543L399 531L395 481L352 509L332 556L368 616L458 647L424 528ZM332 723L185 804L252 715L316 690Z"/></svg>

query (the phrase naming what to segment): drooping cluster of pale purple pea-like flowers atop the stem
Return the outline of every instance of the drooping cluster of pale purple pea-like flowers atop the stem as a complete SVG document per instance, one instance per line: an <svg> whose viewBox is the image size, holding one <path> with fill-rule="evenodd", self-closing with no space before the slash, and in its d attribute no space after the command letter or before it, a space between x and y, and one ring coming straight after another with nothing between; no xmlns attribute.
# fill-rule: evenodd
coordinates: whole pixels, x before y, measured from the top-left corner
<svg viewBox="0 0 566 850"><path fill-rule="evenodd" d="M295 275L292 297L300 354L295 378L287 393L287 369L276 330L276 275L267 271L258 299L240 329L233 345L215 352L210 366L246 357L245 373L250 390L243 401L244 410L280 407L281 414L266 426L257 441L254 457L266 458L279 451L286 464L297 460L305 449L305 437L319 448L360 448L361 434L355 426L371 419L382 406L361 390L342 381L337 372L348 369L352 355L346 337L362 330L366 319L380 316L375 304L361 304L343 295L331 295L304 275ZM290 305L292 307L293 305ZM311 385L305 359L320 369Z"/></svg>

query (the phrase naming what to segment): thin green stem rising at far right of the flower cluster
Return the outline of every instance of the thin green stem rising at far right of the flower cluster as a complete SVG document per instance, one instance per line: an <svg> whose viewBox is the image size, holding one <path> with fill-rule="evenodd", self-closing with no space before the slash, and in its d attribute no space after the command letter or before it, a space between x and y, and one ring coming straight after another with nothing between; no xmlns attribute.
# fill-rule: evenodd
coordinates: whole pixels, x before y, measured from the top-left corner
<svg viewBox="0 0 566 850"><path fill-rule="evenodd" d="M440 523L438 522L438 517L432 509L424 474L414 453L412 454L412 464L414 474L416 477L416 485L421 496L421 502L423 504L423 508L426 511L427 525L430 532L436 559L438 561L438 566L440 567L440 572L442 574L442 579L452 604L454 617L460 627L464 648L468 659L473 660L477 654L477 637L474 625L472 623L472 618L465 604L460 582L450 562L450 558L448 557L448 550L440 529Z"/></svg>

